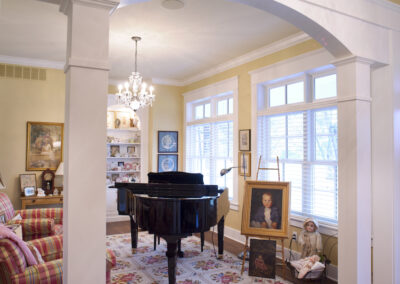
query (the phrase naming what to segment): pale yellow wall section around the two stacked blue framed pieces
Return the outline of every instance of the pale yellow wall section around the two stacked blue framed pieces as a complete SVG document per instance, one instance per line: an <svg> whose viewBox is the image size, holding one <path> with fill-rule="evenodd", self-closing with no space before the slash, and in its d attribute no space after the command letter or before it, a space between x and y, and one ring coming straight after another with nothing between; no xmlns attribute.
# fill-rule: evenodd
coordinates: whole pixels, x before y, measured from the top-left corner
<svg viewBox="0 0 400 284"><path fill-rule="evenodd" d="M178 131L178 170L182 170L183 97L182 87L154 85L156 101L150 108L149 171L157 171L157 135L159 130Z"/></svg>

